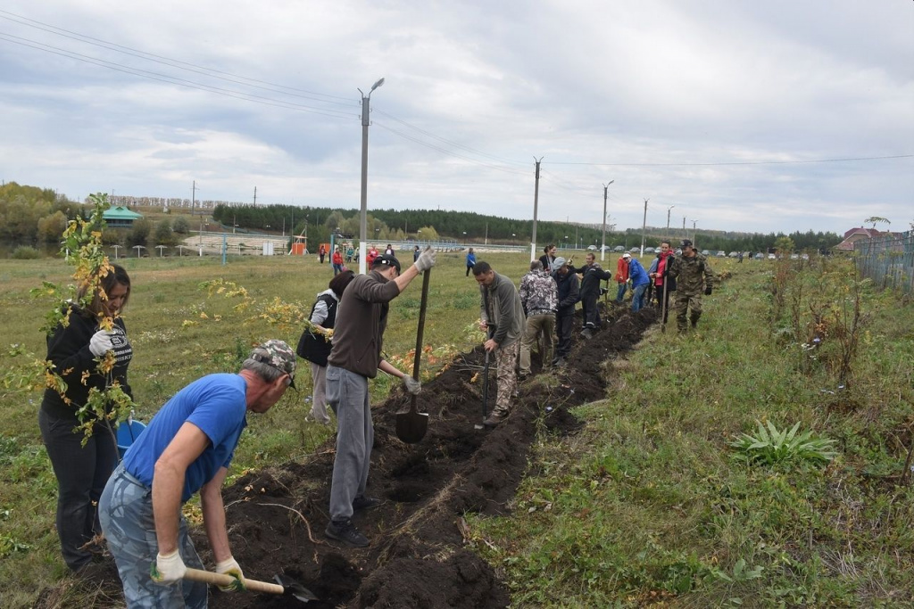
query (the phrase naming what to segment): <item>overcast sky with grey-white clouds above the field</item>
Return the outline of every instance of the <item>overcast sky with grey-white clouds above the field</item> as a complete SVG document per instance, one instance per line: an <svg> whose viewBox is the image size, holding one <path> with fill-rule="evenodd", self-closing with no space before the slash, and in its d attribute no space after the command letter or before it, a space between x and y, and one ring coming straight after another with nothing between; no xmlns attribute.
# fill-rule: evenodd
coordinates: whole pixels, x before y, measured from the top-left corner
<svg viewBox="0 0 914 609"><path fill-rule="evenodd" d="M6 0L0 178L718 230L914 221L911 0ZM895 157L895 158L887 158ZM883 225L885 226L885 225Z"/></svg>

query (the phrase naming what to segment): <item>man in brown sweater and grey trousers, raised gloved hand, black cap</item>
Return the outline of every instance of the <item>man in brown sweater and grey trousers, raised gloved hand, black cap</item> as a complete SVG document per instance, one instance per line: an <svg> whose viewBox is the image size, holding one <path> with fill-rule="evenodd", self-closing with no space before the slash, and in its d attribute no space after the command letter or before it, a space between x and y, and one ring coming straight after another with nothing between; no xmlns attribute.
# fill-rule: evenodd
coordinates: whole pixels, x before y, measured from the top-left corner
<svg viewBox="0 0 914 609"><path fill-rule="evenodd" d="M327 404L336 413L336 455L330 485L330 522L324 535L353 548L364 548L369 543L353 524L353 514L381 502L365 494L375 439L368 379L375 378L380 370L398 377L410 394L421 390L419 381L381 357L390 301L420 273L434 266L435 250L431 247L426 247L402 275L396 257L378 256L371 271L353 279L340 299L333 347L327 357Z"/></svg>

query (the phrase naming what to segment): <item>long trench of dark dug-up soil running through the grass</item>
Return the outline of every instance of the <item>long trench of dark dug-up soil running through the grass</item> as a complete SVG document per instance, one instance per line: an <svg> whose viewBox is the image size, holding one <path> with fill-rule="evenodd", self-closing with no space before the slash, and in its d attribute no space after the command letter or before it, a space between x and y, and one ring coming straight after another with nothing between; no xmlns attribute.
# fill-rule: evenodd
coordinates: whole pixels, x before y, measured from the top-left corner
<svg viewBox="0 0 914 609"><path fill-rule="evenodd" d="M603 304L600 303L600 307ZM659 318L646 309L632 314L613 305L604 326L585 341L577 331L567 365L519 383L512 414L492 430L482 422L481 347L464 353L424 383L420 410L429 413L426 436L415 445L399 441L395 414L409 406L399 391L372 409L375 445L367 495L383 499L356 512L356 527L371 541L362 550L324 537L333 473L333 440L305 462L267 467L225 488L228 536L246 577L271 581L282 572L317 597L307 605L291 596L264 593L210 595L211 607L505 607L509 591L492 566L465 548L464 514L504 515L528 469L538 433L568 435L579 420L569 408L606 395L612 361L641 340ZM577 327L580 327L576 324ZM490 408L494 404L494 366ZM212 564L205 533L194 533ZM112 565L113 566L113 565ZM116 572L97 582L116 585ZM118 595L114 590L112 595Z"/></svg>

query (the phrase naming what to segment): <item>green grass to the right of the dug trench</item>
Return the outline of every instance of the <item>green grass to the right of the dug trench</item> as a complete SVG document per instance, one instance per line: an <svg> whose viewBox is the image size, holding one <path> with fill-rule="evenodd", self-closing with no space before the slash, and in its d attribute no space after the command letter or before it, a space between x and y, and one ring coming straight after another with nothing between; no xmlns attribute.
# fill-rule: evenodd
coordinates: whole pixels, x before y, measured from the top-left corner
<svg viewBox="0 0 914 609"><path fill-rule="evenodd" d="M855 389L772 338L765 265L705 300L700 331L652 331L615 362L577 437L541 439L509 518L474 545L515 606L910 606L914 308L868 292ZM846 269L845 269L846 270ZM739 296L737 296L739 295ZM825 391L823 391L825 390ZM756 422L835 438L829 464L749 464ZM788 425L788 422L791 425Z"/></svg>

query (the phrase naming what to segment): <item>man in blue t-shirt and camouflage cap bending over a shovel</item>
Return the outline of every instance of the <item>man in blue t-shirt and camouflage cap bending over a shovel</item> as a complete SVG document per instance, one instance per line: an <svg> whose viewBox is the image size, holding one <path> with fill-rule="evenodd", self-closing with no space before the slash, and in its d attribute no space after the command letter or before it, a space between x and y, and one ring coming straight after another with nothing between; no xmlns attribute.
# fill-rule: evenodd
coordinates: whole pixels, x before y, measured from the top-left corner
<svg viewBox="0 0 914 609"><path fill-rule="evenodd" d="M203 569L181 507L199 491L216 572L244 588L232 558L222 483L248 424L294 387L295 352L283 341L254 348L237 374L209 374L159 409L127 449L99 499L101 530L121 576L127 606L206 607L207 584L183 581Z"/></svg>

